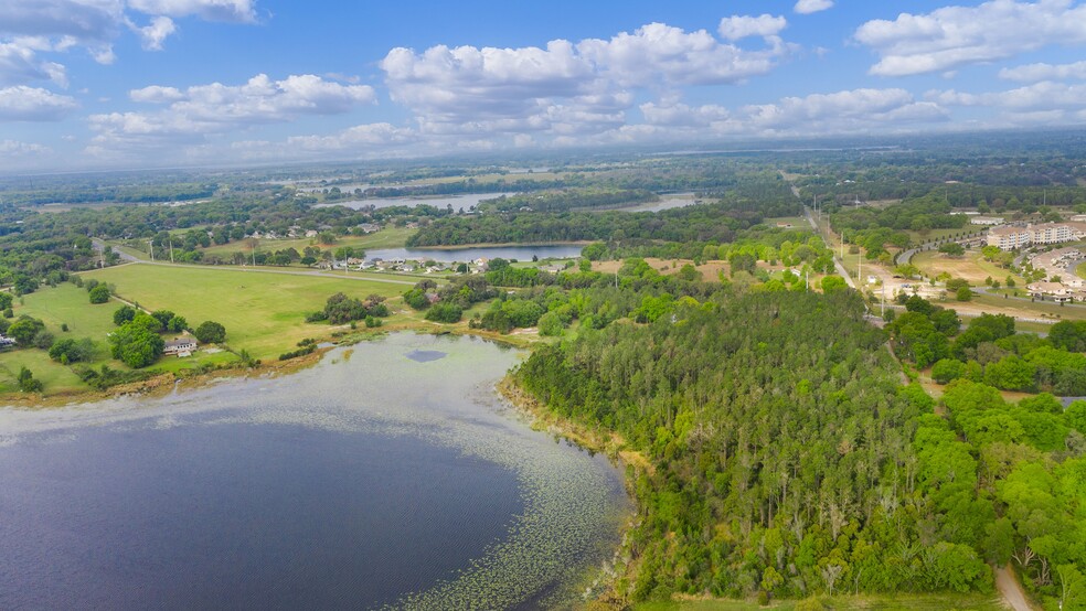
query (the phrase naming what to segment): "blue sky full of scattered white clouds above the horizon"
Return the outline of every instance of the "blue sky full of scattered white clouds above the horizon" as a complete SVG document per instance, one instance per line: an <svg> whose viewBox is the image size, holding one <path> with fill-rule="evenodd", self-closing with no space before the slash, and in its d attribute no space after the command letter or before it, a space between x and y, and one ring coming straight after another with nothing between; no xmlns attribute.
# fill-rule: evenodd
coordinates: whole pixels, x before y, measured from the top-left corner
<svg viewBox="0 0 1086 611"><path fill-rule="evenodd" d="M2 0L0 173L1086 125L1086 0Z"/></svg>

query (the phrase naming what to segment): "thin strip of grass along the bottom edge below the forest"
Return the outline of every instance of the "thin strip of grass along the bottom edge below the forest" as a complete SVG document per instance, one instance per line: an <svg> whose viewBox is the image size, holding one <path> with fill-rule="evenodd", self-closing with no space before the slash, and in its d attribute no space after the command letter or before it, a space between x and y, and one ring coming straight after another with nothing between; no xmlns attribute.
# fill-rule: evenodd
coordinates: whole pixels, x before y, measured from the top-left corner
<svg viewBox="0 0 1086 611"><path fill-rule="evenodd" d="M894 597L819 597L826 609L870 610L870 611L1005 611L997 594L901 594ZM775 609L791 611L795 600L773 601L767 607L745 600L705 600L683 602L646 602L636 605L636 611L757 611Z"/></svg>

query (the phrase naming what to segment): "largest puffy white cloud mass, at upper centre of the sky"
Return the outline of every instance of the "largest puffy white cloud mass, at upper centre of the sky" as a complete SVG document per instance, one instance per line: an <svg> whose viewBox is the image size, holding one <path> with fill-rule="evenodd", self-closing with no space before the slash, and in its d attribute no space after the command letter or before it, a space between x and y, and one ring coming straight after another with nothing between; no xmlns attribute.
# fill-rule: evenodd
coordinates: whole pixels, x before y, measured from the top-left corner
<svg viewBox="0 0 1086 611"><path fill-rule="evenodd" d="M794 50L776 36L782 18L735 19L731 34L760 35L765 47L650 23L609 40L545 47L398 47L380 66L393 100L416 114L423 131L593 132L625 121L632 89L735 83L770 72Z"/></svg>

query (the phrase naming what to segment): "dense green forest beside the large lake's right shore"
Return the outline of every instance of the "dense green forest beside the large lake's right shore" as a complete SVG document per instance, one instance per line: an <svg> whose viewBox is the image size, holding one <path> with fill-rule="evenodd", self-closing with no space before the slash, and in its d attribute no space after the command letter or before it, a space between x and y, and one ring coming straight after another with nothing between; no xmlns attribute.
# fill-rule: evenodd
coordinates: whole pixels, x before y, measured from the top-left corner
<svg viewBox="0 0 1086 611"><path fill-rule="evenodd" d="M723 288L671 312L583 330L513 374L651 460L621 594L988 591L986 562L1012 558L1042 598L1086 585L1086 401L1061 416L1051 395L961 380L937 415L849 291Z"/></svg>

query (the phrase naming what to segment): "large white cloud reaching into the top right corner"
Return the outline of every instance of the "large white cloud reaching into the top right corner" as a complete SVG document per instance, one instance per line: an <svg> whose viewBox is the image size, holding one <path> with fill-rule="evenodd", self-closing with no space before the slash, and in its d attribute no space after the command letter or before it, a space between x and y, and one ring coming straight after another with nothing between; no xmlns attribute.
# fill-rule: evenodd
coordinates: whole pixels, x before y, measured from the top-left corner
<svg viewBox="0 0 1086 611"><path fill-rule="evenodd" d="M879 54L870 72L904 76L992 62L1046 44L1086 42L1086 6L991 0L862 24L854 37Z"/></svg>

